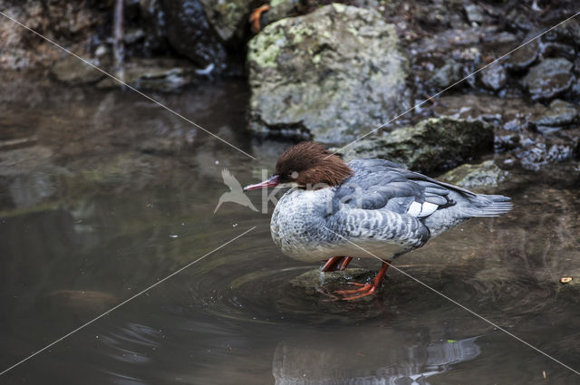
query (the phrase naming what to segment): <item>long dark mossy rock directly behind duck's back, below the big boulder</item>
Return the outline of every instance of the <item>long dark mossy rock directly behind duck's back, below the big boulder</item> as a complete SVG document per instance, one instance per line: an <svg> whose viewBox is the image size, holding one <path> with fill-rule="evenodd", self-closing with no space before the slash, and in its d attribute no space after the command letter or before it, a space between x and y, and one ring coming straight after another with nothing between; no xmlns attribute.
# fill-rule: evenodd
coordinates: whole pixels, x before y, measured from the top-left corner
<svg viewBox="0 0 580 385"><path fill-rule="evenodd" d="M345 159L389 159L412 170L453 168L493 150L493 126L478 120L433 118L382 137L359 140L345 149Z"/></svg>

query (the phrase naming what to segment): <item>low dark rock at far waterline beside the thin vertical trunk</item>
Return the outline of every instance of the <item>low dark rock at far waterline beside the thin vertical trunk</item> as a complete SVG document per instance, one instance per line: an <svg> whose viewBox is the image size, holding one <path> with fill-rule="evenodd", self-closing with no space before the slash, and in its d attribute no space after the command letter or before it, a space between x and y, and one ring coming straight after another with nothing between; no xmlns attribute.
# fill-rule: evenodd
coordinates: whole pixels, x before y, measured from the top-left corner
<svg viewBox="0 0 580 385"><path fill-rule="evenodd" d="M185 60L169 58L139 59L126 63L124 80L140 90L175 91L194 81L194 68ZM107 77L98 88L119 87L119 82Z"/></svg>

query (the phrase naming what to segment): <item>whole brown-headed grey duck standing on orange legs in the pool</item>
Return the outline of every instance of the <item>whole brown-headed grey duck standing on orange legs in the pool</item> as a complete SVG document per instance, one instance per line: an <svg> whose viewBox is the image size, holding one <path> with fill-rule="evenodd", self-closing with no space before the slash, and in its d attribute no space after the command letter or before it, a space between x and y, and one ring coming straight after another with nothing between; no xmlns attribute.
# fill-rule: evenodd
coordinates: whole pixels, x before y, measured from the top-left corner
<svg viewBox="0 0 580 385"><path fill-rule="evenodd" d="M512 207L509 197L476 194L389 160L344 162L310 141L285 150L271 178L244 190L276 186L291 188L270 222L285 255L326 261L322 271L343 270L353 256L382 259L371 283L336 292L346 300L373 294L393 258L470 217L497 217Z"/></svg>

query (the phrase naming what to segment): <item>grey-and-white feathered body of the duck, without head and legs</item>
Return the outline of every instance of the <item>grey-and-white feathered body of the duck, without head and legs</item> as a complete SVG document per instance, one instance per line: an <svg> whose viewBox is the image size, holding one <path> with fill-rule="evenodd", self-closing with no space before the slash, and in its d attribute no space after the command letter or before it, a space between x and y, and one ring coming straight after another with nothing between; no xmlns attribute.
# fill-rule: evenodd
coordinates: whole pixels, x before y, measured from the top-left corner
<svg viewBox="0 0 580 385"><path fill-rule="evenodd" d="M475 194L388 160L354 159L348 166L353 175L339 186L294 188L280 199L270 226L286 255L308 261L371 256L343 236L388 259L469 217L496 217L511 208L508 197Z"/></svg>

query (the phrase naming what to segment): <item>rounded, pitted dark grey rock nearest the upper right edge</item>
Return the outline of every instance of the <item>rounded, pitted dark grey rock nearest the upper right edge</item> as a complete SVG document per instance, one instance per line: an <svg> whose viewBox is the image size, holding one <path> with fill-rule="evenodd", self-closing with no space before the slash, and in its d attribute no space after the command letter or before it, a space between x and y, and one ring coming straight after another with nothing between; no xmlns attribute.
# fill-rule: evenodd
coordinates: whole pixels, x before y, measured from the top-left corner
<svg viewBox="0 0 580 385"><path fill-rule="evenodd" d="M523 79L534 100L550 100L570 88L574 80L572 63L564 58L549 58L533 66Z"/></svg>

